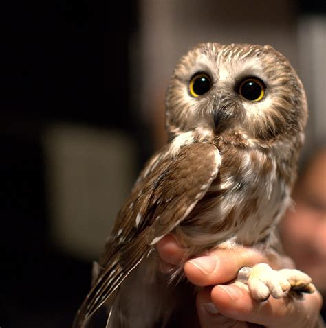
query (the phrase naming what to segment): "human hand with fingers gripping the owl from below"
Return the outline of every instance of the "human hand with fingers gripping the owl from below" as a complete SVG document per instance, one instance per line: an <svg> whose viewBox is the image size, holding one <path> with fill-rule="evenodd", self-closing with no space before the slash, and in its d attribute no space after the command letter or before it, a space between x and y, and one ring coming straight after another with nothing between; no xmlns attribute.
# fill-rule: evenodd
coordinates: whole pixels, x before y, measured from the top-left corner
<svg viewBox="0 0 326 328"><path fill-rule="evenodd" d="M184 249L172 235L167 235L157 243L157 251L162 259L163 270L176 266L184 256ZM221 325L227 318L231 322L238 322L235 327L248 327L246 323L268 328L318 327L318 313L322 304L318 291L300 297L270 297L261 303L254 301L243 288L230 283L237 277L240 268L257 263L268 263L274 269L293 267L287 257L276 253L263 254L254 248L240 246L228 250L215 249L185 263L184 273L189 281L204 287L197 294L197 314L201 327Z"/></svg>

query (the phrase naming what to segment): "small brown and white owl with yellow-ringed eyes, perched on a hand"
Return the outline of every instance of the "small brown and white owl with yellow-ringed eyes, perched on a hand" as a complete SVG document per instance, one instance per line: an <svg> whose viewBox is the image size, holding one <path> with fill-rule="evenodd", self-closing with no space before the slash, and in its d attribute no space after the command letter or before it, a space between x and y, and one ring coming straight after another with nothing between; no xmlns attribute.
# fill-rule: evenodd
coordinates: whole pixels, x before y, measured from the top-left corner
<svg viewBox="0 0 326 328"><path fill-rule="evenodd" d="M88 327L103 308L103 327L192 327L195 318L185 318L195 313L195 293L182 279L184 262L163 274L155 244L175 235L184 261L219 247L275 248L306 121L303 85L274 48L204 43L188 51L166 91L169 143L120 210L73 327ZM264 263L238 279L259 301L314 290L302 272Z"/></svg>

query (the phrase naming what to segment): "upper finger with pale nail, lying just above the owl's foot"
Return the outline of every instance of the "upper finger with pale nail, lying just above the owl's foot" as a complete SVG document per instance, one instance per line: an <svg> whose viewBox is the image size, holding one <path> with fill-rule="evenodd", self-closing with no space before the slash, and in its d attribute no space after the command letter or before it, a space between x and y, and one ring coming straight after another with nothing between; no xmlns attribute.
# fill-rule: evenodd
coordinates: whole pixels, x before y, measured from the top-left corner
<svg viewBox="0 0 326 328"><path fill-rule="evenodd" d="M217 285L235 279L243 266L257 263L268 263L268 258L253 248L215 249L206 256L187 261L184 272L195 285Z"/></svg>

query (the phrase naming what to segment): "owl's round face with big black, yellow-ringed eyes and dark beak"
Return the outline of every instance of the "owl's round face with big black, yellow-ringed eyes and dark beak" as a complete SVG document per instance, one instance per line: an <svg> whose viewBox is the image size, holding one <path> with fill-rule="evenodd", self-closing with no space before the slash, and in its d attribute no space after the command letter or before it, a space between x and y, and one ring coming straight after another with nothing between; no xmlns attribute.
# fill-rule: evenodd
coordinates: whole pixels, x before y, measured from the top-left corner
<svg viewBox="0 0 326 328"><path fill-rule="evenodd" d="M268 141L298 134L306 119L301 81L270 46L201 44L181 58L166 93L172 136L203 126Z"/></svg>

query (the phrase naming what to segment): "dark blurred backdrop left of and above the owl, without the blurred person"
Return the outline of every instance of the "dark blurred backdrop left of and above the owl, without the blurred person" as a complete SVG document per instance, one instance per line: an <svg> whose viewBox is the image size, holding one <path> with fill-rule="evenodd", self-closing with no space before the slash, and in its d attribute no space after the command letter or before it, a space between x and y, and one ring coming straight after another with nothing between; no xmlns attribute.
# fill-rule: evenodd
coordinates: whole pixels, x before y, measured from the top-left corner
<svg viewBox="0 0 326 328"><path fill-rule="evenodd" d="M0 22L1 328L71 325L189 47L276 47L306 85L305 152L325 140L325 1L6 1Z"/></svg>

